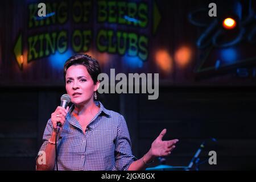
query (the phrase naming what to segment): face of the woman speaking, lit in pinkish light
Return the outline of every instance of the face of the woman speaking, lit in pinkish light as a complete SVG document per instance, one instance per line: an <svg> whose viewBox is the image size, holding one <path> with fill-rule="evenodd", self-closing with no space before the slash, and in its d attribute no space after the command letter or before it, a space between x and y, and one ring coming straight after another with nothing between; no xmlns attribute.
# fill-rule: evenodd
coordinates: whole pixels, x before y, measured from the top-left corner
<svg viewBox="0 0 256 182"><path fill-rule="evenodd" d="M75 105L86 104L93 100L94 91L98 89L99 82L95 85L84 65L72 65L67 69L66 90Z"/></svg>

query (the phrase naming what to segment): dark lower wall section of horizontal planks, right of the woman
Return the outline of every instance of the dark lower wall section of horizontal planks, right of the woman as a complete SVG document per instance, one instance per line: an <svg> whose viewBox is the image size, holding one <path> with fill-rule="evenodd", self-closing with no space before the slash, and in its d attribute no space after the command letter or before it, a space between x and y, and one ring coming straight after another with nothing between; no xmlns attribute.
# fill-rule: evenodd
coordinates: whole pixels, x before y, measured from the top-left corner
<svg viewBox="0 0 256 182"><path fill-rule="evenodd" d="M139 154L150 148L162 129L164 139L180 141L167 164L188 165L200 144L206 140L200 158L217 152L217 166L202 164L205 170L252 169L256 167L254 131L255 88L162 88L159 99L139 97ZM212 142L210 138L216 138ZM152 164L156 166L159 163Z"/></svg>

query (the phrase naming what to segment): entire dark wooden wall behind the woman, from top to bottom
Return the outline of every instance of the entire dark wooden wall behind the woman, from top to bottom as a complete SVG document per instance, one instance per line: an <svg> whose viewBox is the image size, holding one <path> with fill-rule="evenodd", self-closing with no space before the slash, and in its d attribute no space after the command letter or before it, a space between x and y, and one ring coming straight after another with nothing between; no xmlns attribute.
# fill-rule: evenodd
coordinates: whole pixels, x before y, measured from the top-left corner
<svg viewBox="0 0 256 182"><path fill-rule="evenodd" d="M23 71L15 61L13 49L20 31L23 39L27 40L28 35L74 28L69 22L64 26L28 30L26 10L31 2L4 1L0 6L0 170L35 169L35 157L42 144L44 127L51 113L60 104L60 96L65 93L61 86L62 67L52 68L48 57L29 64L25 61ZM152 9L154 1L149 2ZM102 69L104 72L115 68L118 72L159 73L158 100L147 100L146 94L105 94L101 96L102 103L107 109L117 111L126 118L133 153L137 158L141 158L149 150L151 142L166 128L164 139L180 140L175 151L167 158L168 165L187 166L205 140L205 149L201 152L200 159L207 159L208 152L214 150L217 152L217 165L204 163L200 169L255 169L255 75L254 78L240 78L236 76L235 69L233 73L224 76L196 80L193 72L200 63L200 52L204 52L196 48L196 40L204 28L189 23L188 13L201 6L205 7L212 1L155 2L161 14L161 22L156 35L148 35L149 55L142 68L128 67L119 55L98 54L94 49L89 51L98 55L96 58L100 62L108 58L108 64ZM256 3L252 3L255 10ZM90 23L94 29L105 26L105 23ZM129 31L129 27L126 29L125 31ZM174 64L174 72L161 74L161 70L156 67L155 52L166 49L173 57L175 51L185 44L194 51L188 66L180 69ZM23 46L23 53L27 53L26 44ZM250 70L253 68L255 69L255 65L249 67ZM216 138L217 142L212 142L210 138ZM158 160L151 167L157 165Z"/></svg>

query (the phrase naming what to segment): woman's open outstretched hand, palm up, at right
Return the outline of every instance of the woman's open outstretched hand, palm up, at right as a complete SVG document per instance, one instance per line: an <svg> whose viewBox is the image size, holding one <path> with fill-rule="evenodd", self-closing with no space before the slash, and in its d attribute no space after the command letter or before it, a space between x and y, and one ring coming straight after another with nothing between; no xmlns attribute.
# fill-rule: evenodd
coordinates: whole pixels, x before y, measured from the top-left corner
<svg viewBox="0 0 256 182"><path fill-rule="evenodd" d="M166 134L166 129L163 129L160 135L151 144L150 153L153 157L167 156L174 150L178 139L163 141L163 136Z"/></svg>

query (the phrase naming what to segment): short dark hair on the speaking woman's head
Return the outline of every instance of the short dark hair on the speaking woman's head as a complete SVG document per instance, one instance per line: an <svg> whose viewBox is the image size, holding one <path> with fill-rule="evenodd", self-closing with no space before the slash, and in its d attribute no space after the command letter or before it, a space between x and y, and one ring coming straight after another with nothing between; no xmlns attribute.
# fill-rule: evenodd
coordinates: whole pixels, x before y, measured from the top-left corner
<svg viewBox="0 0 256 182"><path fill-rule="evenodd" d="M72 65L84 65L87 68L90 77L92 77L93 83L96 84L98 81L98 75L101 73L100 65L96 59L81 53L70 57L64 64L64 80L67 69Z"/></svg>

